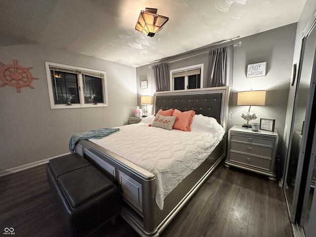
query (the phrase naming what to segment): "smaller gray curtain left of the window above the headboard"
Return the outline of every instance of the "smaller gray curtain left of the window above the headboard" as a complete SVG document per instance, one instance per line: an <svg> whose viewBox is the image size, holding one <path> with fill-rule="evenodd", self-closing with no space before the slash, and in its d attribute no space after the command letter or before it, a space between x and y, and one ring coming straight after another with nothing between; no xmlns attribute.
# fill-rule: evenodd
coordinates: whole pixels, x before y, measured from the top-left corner
<svg viewBox="0 0 316 237"><path fill-rule="evenodd" d="M167 63L160 63L153 66L153 73L156 84L156 91L170 90Z"/></svg>

